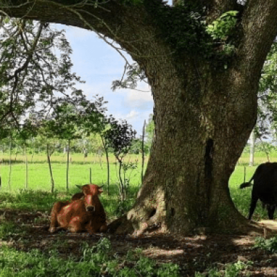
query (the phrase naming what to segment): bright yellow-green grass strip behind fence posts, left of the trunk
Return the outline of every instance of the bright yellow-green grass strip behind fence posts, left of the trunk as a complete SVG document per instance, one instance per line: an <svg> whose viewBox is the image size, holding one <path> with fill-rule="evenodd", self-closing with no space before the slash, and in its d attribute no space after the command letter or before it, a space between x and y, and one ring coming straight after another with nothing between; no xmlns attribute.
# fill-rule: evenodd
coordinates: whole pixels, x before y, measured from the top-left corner
<svg viewBox="0 0 277 277"><path fill-rule="evenodd" d="M44 157L44 156L43 156ZM17 161L19 161L17 157ZM44 157L46 159L46 157ZM55 157L62 158L62 157ZM69 186L75 187L75 184L87 184L90 179L91 168L91 181L93 184L105 184L107 183L107 163L83 163L80 161L82 155L73 155L73 162L69 164ZM129 158L129 157L128 157ZM132 157L132 161L136 159L136 156ZM34 161L35 159L33 159ZM53 178L55 181L55 189L62 191L66 190L66 163L58 161L58 159L52 159L51 167L53 170ZM74 161L75 160L75 161ZM129 159L126 159L128 161ZM130 159L131 160L131 159ZM118 165L117 165L118 168ZM0 174L2 180L3 190L8 190L10 166L8 161L0 166ZM116 173L116 164L114 159L111 159L110 163L110 183L116 184L118 181ZM127 177L130 177L130 183L135 186L141 184L141 163L138 163L137 170L128 170ZM23 163L12 164L11 174L11 189L18 190L26 188L26 166ZM34 163L28 163L28 189L32 190L50 190L51 179L48 168L48 163L44 159L37 159Z"/></svg>

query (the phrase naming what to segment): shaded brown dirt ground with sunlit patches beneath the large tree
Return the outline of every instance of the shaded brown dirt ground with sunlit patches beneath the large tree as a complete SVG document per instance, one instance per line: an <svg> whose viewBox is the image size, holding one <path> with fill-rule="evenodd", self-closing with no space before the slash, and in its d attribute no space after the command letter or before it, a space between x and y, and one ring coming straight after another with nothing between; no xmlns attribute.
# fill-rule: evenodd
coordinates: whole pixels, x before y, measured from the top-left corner
<svg viewBox="0 0 277 277"><path fill-rule="evenodd" d="M132 235L109 235L88 233L48 233L46 224L48 214L24 213L19 211L0 210L0 220L14 222L20 232L10 235L8 244L19 250L28 251L37 248L48 251L51 245L58 245L61 256L69 253L80 255L80 244L83 241L93 245L100 238L109 238L114 254L123 257L130 249L140 247L142 253L157 262L173 262L181 267L180 276L195 276L195 271L204 272L208 268L224 269L227 263L252 261L247 268L250 276L277 276L277 255L262 249L253 249L255 238L247 235L197 235L175 237L172 235L142 235L139 238ZM4 243L3 241L0 241ZM6 242L5 242L6 243ZM129 266L129 265L124 265ZM244 272L242 271L242 276Z"/></svg>

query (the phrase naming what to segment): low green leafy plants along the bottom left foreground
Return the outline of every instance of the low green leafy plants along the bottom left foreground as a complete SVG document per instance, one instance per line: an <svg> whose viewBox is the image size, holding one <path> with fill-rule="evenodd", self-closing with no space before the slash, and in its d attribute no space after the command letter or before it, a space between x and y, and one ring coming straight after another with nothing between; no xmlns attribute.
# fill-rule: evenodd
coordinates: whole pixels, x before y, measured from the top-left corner
<svg viewBox="0 0 277 277"><path fill-rule="evenodd" d="M109 255L111 242L102 238L93 247L82 244L82 258L71 255L60 258L57 248L48 253L32 249L29 253L17 251L2 245L0 247L0 276L110 276L110 277L178 277L179 266L166 264L157 265L154 260L140 256L139 260L123 262ZM141 253L141 249L134 250ZM127 260L127 259L125 259Z"/></svg>

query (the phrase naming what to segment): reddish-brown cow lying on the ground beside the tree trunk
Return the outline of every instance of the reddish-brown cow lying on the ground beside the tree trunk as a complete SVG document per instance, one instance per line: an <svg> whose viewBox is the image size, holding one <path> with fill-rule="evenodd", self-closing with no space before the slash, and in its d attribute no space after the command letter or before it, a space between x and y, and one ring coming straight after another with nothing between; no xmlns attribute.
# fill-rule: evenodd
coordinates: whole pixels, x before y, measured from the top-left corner
<svg viewBox="0 0 277 277"><path fill-rule="evenodd" d="M91 234L107 231L106 214L98 198L103 190L93 184L87 184L81 188L83 199L80 199L82 196L78 194L78 197L71 202L54 204L49 228L51 233L58 229L67 229L72 233L88 231Z"/></svg>

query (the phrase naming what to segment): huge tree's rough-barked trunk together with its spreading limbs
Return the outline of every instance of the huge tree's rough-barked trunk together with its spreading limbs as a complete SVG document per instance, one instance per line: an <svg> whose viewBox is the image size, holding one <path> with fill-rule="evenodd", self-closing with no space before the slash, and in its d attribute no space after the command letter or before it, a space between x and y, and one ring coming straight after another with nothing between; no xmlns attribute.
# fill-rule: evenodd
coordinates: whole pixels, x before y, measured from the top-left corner
<svg viewBox="0 0 277 277"><path fill-rule="evenodd" d="M172 55L176 49L148 10L162 5L157 1L138 6L108 1L93 8L64 6L65 0L10 0L10 7L2 8L13 17L96 30L125 48L145 71L154 98L154 141L136 202L111 228L117 233L230 232L246 226L228 182L256 123L260 72L277 35L277 1L236 2L206 1L208 22L227 10L240 11L235 55L224 70L201 53Z"/></svg>

